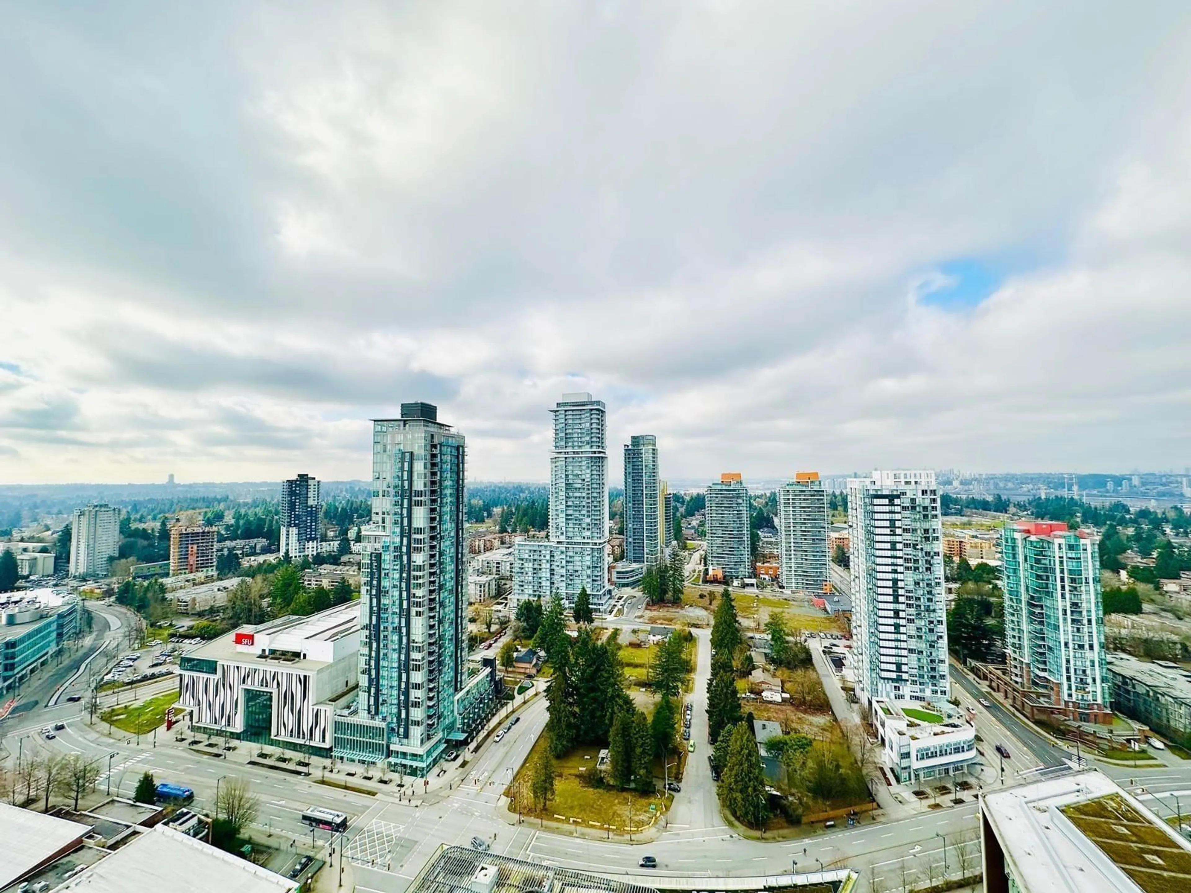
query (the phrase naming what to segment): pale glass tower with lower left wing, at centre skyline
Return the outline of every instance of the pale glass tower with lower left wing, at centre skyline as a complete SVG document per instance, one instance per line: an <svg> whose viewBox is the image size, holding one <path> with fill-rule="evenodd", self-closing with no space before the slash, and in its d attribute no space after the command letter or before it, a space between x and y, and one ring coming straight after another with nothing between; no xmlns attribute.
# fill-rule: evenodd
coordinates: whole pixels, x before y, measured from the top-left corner
<svg viewBox="0 0 1191 893"><path fill-rule="evenodd" d="M563 394L554 413L550 454L550 538L513 550L513 600L557 594L573 605L586 588L593 605L612 594L607 581L607 411L591 394Z"/></svg>

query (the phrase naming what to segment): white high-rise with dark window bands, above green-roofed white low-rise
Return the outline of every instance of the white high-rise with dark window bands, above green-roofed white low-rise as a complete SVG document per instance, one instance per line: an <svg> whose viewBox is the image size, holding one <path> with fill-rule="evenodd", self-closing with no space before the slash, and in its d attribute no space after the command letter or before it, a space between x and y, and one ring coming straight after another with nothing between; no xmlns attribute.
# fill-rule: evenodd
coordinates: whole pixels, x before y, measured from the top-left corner
<svg viewBox="0 0 1191 893"><path fill-rule="evenodd" d="M874 472L848 481L852 652L867 702L943 701L947 611L934 472Z"/></svg>

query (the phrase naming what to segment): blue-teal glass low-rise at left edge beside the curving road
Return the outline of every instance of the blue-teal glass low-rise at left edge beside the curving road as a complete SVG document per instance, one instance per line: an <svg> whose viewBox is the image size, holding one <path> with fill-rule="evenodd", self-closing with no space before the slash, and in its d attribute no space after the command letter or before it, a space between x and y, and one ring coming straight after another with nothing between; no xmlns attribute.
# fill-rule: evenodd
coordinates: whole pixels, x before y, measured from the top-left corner
<svg viewBox="0 0 1191 893"><path fill-rule="evenodd" d="M0 695L15 691L79 631L79 599L57 589L0 595Z"/></svg>

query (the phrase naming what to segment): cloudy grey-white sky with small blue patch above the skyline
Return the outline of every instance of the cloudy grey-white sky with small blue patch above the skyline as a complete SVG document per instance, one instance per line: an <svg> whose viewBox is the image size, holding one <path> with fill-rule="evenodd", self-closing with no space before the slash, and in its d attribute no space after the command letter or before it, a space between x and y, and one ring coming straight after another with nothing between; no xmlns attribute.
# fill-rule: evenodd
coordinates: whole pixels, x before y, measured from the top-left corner
<svg viewBox="0 0 1191 893"><path fill-rule="evenodd" d="M1191 464L1186 0L5 4L0 121L4 482Z"/></svg>

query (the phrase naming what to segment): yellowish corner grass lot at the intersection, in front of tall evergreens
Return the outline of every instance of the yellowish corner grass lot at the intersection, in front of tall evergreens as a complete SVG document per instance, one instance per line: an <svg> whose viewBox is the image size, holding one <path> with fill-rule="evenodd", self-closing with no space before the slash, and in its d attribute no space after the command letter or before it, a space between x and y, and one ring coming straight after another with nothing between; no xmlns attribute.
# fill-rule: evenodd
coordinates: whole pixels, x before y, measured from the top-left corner
<svg viewBox="0 0 1191 893"><path fill-rule="evenodd" d="M505 791L511 798L509 804L511 812L517 812L513 792L517 789L528 791L529 767L534 764L537 755L544 747L547 747L547 739L545 735L542 735L534 743L534 748L522 764L520 772L517 773L517 778L513 779L513 783ZM554 766L557 774L554 779L554 799L545 805L540 816L540 813L534 811L534 804L526 794L524 798L525 803L520 807L520 813L554 822L579 819L579 823L588 828L599 826L603 829L605 825L611 825L612 831L623 833L628 825L630 806L634 831L644 828L649 823L649 818L654 816L649 811L650 805L655 806L659 812L668 807L668 801L672 799L669 797L662 798L660 794L650 795L611 788L588 787L582 783L580 779L596 772L596 760L598 756L599 748L579 747L573 748L569 754L555 760ZM563 818L556 819L555 816L562 816Z"/></svg>

